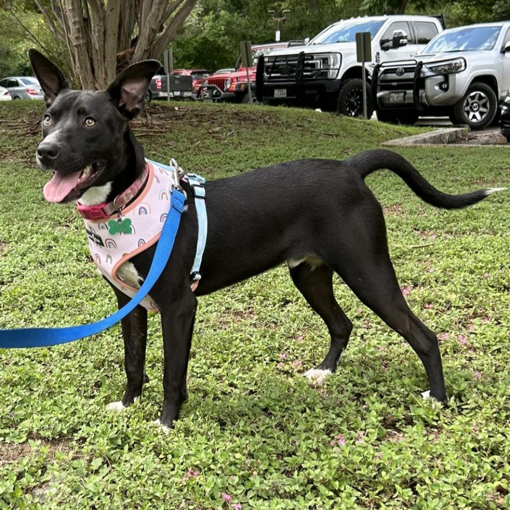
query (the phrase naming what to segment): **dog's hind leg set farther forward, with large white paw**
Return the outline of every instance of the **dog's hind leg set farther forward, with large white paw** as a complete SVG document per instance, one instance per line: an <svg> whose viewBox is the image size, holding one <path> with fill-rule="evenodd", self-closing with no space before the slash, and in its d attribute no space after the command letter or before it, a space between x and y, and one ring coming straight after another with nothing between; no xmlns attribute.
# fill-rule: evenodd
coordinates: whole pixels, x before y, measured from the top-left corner
<svg viewBox="0 0 510 510"><path fill-rule="evenodd" d="M326 323L331 336L331 344L322 363L304 374L315 384L322 385L324 378L337 369L349 341L352 323L333 294L333 270L324 264L314 266L307 262L289 267L289 270L295 286Z"/></svg>

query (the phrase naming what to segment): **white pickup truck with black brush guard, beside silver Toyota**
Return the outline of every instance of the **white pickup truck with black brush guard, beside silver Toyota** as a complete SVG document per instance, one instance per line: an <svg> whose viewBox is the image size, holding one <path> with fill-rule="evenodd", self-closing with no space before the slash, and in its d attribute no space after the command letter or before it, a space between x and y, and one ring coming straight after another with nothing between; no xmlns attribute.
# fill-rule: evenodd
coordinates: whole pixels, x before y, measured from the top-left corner
<svg viewBox="0 0 510 510"><path fill-rule="evenodd" d="M442 32L439 17L373 16L329 25L305 46L271 52L260 62L257 98L273 104L294 103L363 114L362 66L356 57L355 36L370 32L372 60L366 67L370 97L371 71L376 63L410 58ZM368 100L371 115L371 101Z"/></svg>

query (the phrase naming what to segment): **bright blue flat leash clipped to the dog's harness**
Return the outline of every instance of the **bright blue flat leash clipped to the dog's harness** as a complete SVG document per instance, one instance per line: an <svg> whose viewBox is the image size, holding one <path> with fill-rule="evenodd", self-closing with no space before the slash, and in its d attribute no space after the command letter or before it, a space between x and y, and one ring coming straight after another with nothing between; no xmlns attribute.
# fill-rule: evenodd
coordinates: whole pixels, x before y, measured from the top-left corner
<svg viewBox="0 0 510 510"><path fill-rule="evenodd" d="M163 225L149 273L138 292L133 296L133 299L124 307L110 315L110 317L92 324L83 324L82 326L0 329L0 348L48 347L50 345L64 344L100 333L100 331L113 326L113 324L124 318L149 293L163 272L163 269L165 269L172 252L177 230L179 230L185 201L184 193L174 188L171 195L170 212Z"/></svg>

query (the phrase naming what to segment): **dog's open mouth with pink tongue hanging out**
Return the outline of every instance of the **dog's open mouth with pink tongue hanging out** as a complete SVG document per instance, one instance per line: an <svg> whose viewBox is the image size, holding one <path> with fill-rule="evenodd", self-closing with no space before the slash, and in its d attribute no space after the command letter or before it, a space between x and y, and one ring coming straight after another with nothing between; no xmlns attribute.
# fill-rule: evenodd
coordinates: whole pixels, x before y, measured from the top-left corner
<svg viewBox="0 0 510 510"><path fill-rule="evenodd" d="M53 172L52 179L43 188L44 198L48 202L70 202L78 200L81 192L90 188L105 170L103 161L87 165L83 170L64 173Z"/></svg>

